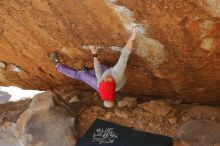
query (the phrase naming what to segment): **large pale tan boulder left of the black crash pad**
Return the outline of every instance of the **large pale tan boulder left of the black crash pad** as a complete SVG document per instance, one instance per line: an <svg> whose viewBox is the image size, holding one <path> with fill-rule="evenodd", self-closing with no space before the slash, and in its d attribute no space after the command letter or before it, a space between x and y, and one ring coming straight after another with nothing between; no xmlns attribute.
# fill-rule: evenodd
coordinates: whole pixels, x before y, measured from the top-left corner
<svg viewBox="0 0 220 146"><path fill-rule="evenodd" d="M18 139L25 146L74 146L73 115L64 100L54 93L36 95L17 120Z"/></svg>

